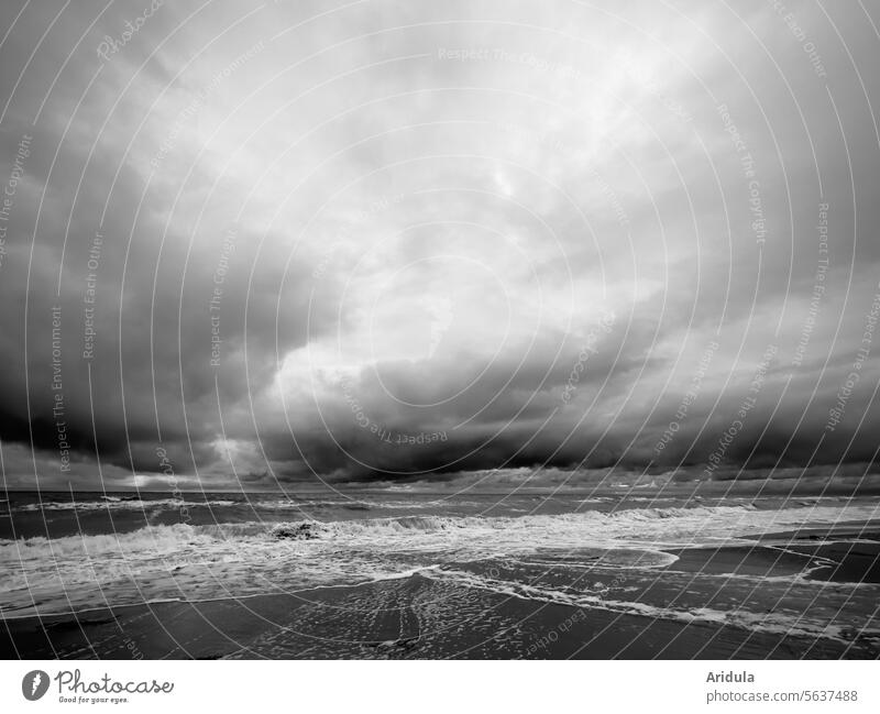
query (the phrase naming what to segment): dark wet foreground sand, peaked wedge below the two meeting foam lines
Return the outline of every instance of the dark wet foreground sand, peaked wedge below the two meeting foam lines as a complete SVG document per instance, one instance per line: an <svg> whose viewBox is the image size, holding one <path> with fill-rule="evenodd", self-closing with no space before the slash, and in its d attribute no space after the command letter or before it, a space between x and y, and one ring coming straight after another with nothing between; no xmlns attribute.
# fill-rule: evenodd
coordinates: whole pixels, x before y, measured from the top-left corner
<svg viewBox="0 0 880 714"><path fill-rule="evenodd" d="M418 574L241 601L6 620L4 658L763 659L876 657L851 642L540 603Z"/></svg>

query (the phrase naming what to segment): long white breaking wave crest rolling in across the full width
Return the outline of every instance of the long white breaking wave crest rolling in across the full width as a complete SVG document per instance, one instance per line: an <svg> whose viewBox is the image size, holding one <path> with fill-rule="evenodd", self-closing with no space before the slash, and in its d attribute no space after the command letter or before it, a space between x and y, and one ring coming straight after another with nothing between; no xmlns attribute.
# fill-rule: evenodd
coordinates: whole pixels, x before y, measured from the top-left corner
<svg viewBox="0 0 880 714"><path fill-rule="evenodd" d="M202 542L227 542L234 546L238 542L248 543L253 538L265 542L288 538L296 540L296 535L288 531L301 528L304 524L308 526L301 532L309 534L305 539L348 545L360 541L366 545L371 540L383 540L387 537L436 535L473 539L484 536L490 540L503 538L526 549L539 541L548 541L556 547L581 547L585 542L624 540L695 547L717 545L719 540L746 535L759 537L785 528L818 527L844 520L868 520L878 515L880 509L876 505L815 506L782 510L758 510L751 505L737 505L492 517L407 515L328 521L306 518L282 524L245 521L202 526L187 524L148 526L128 534L77 535L52 540L42 536L18 540L0 539L0 552L8 548L16 548L22 552L45 549L46 554L51 554L48 551L52 549L66 551L69 548L96 553L106 547L119 546L124 549L131 543L154 548L168 538L179 540L180 545L190 546ZM406 542L402 541L402 545ZM477 545L475 542L474 547Z"/></svg>

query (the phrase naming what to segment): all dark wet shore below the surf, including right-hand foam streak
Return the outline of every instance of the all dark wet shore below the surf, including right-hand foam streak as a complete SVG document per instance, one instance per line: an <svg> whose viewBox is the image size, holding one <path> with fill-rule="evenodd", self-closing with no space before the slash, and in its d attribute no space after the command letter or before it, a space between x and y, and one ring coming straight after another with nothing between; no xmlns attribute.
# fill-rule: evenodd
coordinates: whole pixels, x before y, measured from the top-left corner
<svg viewBox="0 0 880 714"><path fill-rule="evenodd" d="M353 586L7 618L0 657L877 659L878 560L876 520L538 548Z"/></svg>

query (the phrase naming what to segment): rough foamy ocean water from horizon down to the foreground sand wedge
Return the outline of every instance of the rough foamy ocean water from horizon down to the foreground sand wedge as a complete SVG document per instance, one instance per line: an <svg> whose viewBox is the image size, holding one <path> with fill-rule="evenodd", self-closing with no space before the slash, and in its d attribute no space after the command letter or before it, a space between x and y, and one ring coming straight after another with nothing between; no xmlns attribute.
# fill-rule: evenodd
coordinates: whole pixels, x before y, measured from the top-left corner
<svg viewBox="0 0 880 714"><path fill-rule="evenodd" d="M7 496L4 618L418 575L572 608L880 644L877 497Z"/></svg>

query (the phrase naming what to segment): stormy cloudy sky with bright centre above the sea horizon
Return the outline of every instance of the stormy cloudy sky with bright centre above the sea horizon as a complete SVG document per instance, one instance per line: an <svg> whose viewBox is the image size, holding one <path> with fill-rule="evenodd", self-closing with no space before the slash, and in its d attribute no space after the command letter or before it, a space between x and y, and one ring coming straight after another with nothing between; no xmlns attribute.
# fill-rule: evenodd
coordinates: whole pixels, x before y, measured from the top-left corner
<svg viewBox="0 0 880 714"><path fill-rule="evenodd" d="M4 2L4 483L876 473L878 24Z"/></svg>

